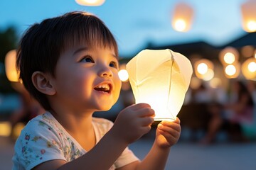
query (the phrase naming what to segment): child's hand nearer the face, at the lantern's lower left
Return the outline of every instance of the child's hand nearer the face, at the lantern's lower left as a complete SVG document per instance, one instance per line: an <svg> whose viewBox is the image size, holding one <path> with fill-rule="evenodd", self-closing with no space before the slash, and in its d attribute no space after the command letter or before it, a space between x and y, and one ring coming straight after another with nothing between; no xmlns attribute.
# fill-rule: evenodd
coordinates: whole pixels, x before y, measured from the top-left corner
<svg viewBox="0 0 256 170"><path fill-rule="evenodd" d="M113 132L127 144L138 140L151 130L154 123L154 110L149 104L139 103L124 108L114 121Z"/></svg>

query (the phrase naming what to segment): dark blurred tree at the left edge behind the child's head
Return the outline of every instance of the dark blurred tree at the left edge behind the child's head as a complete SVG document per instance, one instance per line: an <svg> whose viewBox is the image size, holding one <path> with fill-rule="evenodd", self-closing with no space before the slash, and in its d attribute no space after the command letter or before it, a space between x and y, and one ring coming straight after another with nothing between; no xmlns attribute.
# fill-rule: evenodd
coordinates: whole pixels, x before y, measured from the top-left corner
<svg viewBox="0 0 256 170"><path fill-rule="evenodd" d="M14 50L17 47L18 35L16 28L10 26L6 30L0 30L0 93L14 93L14 89L11 88L11 84L6 77L4 69L4 58L6 53L10 50Z"/></svg>

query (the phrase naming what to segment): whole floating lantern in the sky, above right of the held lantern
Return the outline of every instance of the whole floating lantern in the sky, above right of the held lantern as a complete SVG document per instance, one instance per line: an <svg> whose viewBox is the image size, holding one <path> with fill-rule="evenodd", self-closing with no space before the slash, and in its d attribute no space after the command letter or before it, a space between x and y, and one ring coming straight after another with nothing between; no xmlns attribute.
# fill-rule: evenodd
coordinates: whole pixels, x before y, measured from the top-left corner
<svg viewBox="0 0 256 170"><path fill-rule="evenodd" d="M188 4L178 3L172 14L172 26L174 30L186 32L191 28L193 21L193 8Z"/></svg>

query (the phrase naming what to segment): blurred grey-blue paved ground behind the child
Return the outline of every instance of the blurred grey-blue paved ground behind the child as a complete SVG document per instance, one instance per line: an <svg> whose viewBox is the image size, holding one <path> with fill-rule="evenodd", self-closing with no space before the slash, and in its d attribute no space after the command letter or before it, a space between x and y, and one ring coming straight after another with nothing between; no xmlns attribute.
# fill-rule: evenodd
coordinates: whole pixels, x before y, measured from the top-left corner
<svg viewBox="0 0 256 170"><path fill-rule="evenodd" d="M149 151L153 137L144 137L130 145L130 149L142 159ZM0 170L11 169L14 142L0 137ZM255 170L256 142L234 144L220 142L203 146L180 141L171 149L166 170ZM146 170L146 169L145 169Z"/></svg>

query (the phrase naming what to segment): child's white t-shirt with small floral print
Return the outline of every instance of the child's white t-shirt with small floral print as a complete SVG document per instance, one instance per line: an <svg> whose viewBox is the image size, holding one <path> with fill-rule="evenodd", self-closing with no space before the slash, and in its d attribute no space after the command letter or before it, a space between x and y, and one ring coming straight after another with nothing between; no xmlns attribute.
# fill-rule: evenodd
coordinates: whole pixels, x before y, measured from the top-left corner
<svg viewBox="0 0 256 170"><path fill-rule="evenodd" d="M99 142L113 123L104 118L92 118L92 125L96 142ZM53 159L70 162L86 154L85 149L48 112L28 122L16 141L14 151L15 170L33 169L38 164ZM127 147L110 169L117 169L137 160L139 159ZM100 164L100 160L95 160L95 164Z"/></svg>

